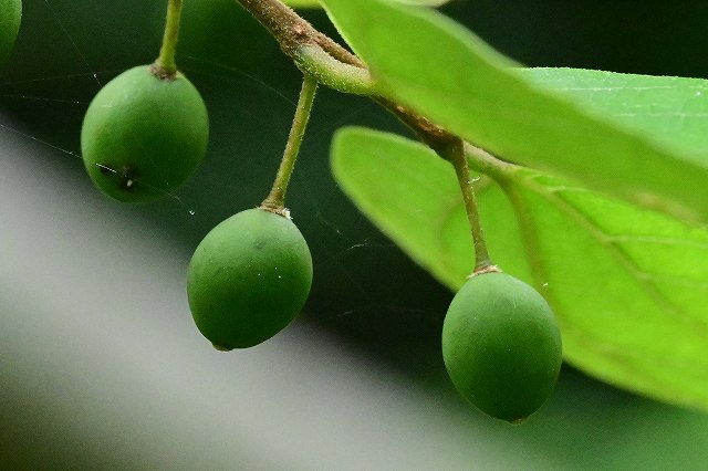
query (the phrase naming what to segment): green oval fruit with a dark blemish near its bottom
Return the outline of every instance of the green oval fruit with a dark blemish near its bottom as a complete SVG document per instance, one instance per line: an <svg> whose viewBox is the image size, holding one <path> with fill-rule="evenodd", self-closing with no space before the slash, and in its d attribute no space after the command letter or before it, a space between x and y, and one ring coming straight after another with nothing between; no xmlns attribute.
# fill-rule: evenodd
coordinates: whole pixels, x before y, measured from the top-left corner
<svg viewBox="0 0 708 471"><path fill-rule="evenodd" d="M81 130L84 165L94 184L121 201L169 195L199 166L209 135L207 108L179 72L160 77L142 65L108 82Z"/></svg>

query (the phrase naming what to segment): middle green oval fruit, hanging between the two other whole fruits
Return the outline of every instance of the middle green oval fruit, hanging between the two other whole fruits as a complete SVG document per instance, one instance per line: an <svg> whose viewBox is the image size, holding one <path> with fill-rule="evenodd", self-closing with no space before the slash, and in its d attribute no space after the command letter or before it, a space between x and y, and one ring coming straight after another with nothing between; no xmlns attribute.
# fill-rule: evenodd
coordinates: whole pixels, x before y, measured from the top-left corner
<svg viewBox="0 0 708 471"><path fill-rule="evenodd" d="M241 211L214 228L189 263L187 295L201 334L216 348L258 345L302 310L312 258L290 218Z"/></svg>

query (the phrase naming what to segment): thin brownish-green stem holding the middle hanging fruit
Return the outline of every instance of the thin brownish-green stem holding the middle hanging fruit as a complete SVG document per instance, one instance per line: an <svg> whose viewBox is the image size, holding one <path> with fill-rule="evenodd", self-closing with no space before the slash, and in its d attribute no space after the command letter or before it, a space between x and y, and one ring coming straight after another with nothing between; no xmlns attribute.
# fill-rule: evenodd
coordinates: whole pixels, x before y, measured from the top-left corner
<svg viewBox="0 0 708 471"><path fill-rule="evenodd" d="M268 198L261 203L262 209L288 216L288 210L285 209L285 191L288 190L292 170L295 167L295 160L300 153L300 145L302 144L305 128L308 127L308 121L310 119L316 91L316 78L305 74L302 82L302 90L300 91L300 98L298 100L295 116L292 119L290 136L288 136L288 144L283 151L283 158L280 163L278 175L275 175L273 188L270 190Z"/></svg>

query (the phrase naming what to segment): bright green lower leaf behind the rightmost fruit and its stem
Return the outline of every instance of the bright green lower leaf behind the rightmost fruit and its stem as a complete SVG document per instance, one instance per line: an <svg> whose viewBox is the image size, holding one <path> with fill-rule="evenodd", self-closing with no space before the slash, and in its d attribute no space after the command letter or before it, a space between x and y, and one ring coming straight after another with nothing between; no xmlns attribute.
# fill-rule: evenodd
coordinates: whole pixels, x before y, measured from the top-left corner
<svg viewBox="0 0 708 471"><path fill-rule="evenodd" d="M340 130L342 189L452 290L473 251L452 167L423 145ZM608 383L708 409L708 230L511 166L476 182L490 254L553 306L565 359Z"/></svg>

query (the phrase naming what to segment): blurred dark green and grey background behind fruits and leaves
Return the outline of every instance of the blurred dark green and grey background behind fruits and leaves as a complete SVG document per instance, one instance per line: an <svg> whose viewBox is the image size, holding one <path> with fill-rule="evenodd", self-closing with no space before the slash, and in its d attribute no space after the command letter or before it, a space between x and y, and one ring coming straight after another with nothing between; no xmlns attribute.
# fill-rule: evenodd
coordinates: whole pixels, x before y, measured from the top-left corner
<svg viewBox="0 0 708 471"><path fill-rule="evenodd" d="M215 224L268 192L300 75L233 0L185 3L178 62L209 108L209 154L175 196L123 206L85 175L81 121L101 85L155 59L166 1L24 1L0 76L0 468L706 468L706 414L570 366L523 426L467 406L440 356L452 293L330 176L336 128L407 130L324 88L289 191L314 258L311 299L266 344L212 350L189 315L186 266ZM702 0L442 11L531 66L708 78ZM322 12L304 14L334 34Z"/></svg>

